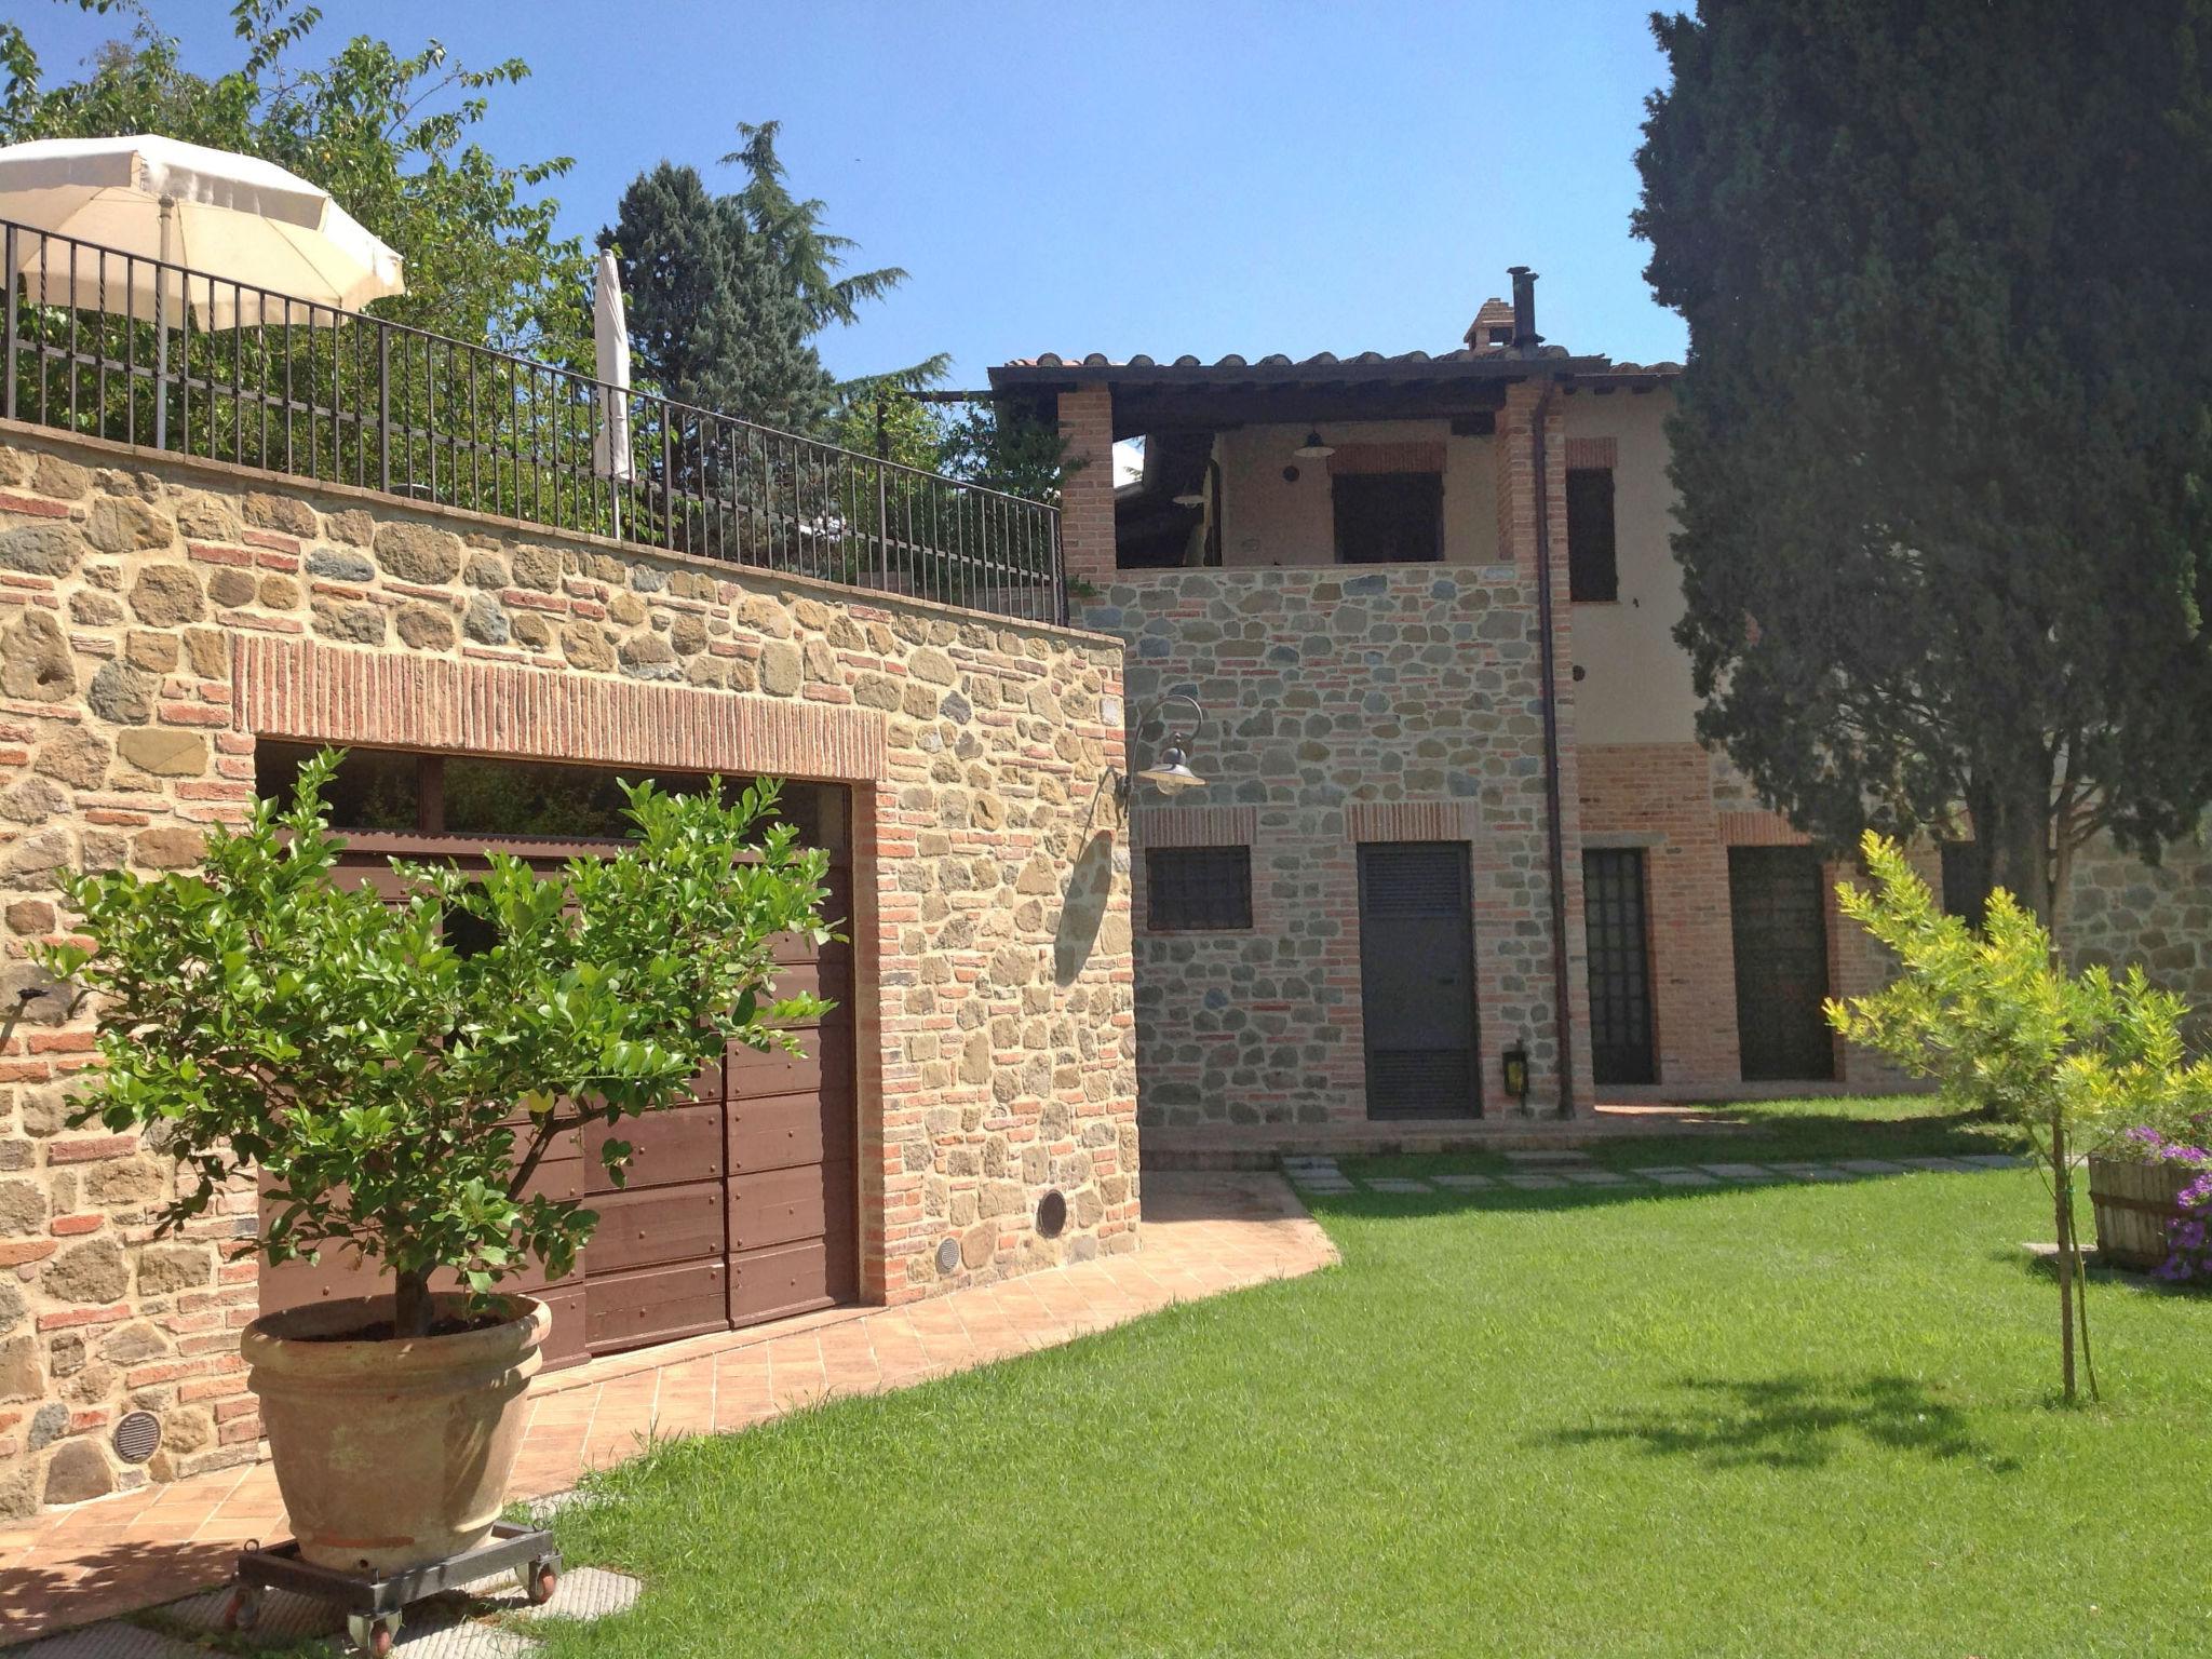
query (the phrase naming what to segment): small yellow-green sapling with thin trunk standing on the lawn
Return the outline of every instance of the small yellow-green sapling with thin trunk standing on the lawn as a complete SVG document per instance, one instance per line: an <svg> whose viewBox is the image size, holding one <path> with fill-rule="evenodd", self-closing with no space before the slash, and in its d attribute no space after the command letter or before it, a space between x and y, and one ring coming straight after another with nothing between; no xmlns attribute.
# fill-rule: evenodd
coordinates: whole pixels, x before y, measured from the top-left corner
<svg viewBox="0 0 2212 1659"><path fill-rule="evenodd" d="M2075 1234L2075 1152L2128 1124L2179 1124L2212 1108L2212 1060L2188 1062L2188 1004L2141 969L2066 975L2051 931L1997 887L1982 931L1947 916L1896 841L1860 843L1874 889L1836 887L1843 914L1889 947L1896 978L1874 995L1829 1000L1829 1024L1909 1071L1933 1077L1958 1106L2017 1124L2051 1181L2059 1248L2059 1376L2077 1394L2075 1334L2088 1365L2088 1305Z"/></svg>

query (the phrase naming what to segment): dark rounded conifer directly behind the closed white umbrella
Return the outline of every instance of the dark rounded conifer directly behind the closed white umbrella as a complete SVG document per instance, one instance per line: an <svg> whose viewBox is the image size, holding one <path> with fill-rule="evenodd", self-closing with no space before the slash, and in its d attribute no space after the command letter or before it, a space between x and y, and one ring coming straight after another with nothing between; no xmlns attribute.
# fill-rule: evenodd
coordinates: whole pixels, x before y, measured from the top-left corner
<svg viewBox="0 0 2212 1659"><path fill-rule="evenodd" d="M734 197L661 161L624 190L604 241L622 268L630 352L657 392L785 431L823 420L832 380L807 343L812 312Z"/></svg>

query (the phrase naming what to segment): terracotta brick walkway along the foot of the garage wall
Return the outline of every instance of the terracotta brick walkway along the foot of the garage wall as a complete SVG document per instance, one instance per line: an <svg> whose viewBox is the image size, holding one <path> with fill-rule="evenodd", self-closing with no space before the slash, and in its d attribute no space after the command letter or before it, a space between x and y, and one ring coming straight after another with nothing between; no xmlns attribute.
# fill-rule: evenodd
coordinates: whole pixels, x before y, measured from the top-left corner
<svg viewBox="0 0 2212 1659"><path fill-rule="evenodd" d="M575 1484L648 1436L728 1433L838 1394L883 1394L1068 1343L1177 1301L1336 1261L1272 1175L1150 1175L1144 1250L905 1307L843 1307L615 1356L531 1389L513 1495ZM0 1533L0 1644L168 1601L285 1537L270 1467L100 1498Z"/></svg>

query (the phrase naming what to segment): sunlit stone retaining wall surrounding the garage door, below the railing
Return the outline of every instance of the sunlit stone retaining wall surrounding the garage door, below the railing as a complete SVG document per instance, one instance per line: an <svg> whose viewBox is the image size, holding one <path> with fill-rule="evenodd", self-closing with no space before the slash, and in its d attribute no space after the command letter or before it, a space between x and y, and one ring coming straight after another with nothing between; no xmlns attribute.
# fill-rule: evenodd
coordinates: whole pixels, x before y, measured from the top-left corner
<svg viewBox="0 0 2212 1659"><path fill-rule="evenodd" d="M9 425L0 995L42 989L53 874L192 865L257 737L841 781L865 1294L1130 1250L1119 670L1064 628ZM164 1164L64 1121L88 1046L49 995L0 1037L0 1515L257 1455L252 1199L157 1241ZM139 1469L106 1449L133 1407L164 1425Z"/></svg>

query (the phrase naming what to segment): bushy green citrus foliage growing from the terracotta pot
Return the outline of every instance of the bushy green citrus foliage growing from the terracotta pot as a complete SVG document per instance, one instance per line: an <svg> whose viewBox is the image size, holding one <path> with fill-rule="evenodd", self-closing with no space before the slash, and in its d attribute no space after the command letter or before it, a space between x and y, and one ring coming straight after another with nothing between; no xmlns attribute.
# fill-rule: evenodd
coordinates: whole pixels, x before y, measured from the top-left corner
<svg viewBox="0 0 2212 1659"><path fill-rule="evenodd" d="M487 1292L531 1261L571 1267L597 1214L529 1192L564 1135L679 1104L728 1042L796 1053L787 1024L825 1004L774 1000L774 936L827 938L827 865L770 823L774 783L734 801L639 783L611 858L560 878L500 854L487 874L394 860L407 896L387 905L332 876L336 763L217 827L201 872L64 876L88 945L38 960L97 1011L80 1121L179 1164L161 1228L259 1170L261 1254L380 1261L394 1334L420 1336L440 1270ZM451 916L493 942L456 949ZM628 1152L604 1141L617 1183Z"/></svg>

